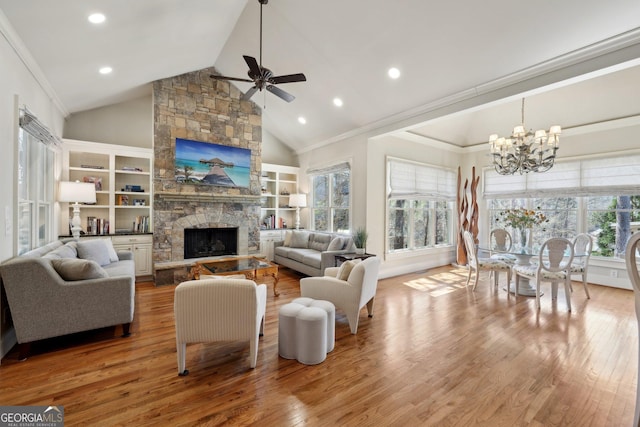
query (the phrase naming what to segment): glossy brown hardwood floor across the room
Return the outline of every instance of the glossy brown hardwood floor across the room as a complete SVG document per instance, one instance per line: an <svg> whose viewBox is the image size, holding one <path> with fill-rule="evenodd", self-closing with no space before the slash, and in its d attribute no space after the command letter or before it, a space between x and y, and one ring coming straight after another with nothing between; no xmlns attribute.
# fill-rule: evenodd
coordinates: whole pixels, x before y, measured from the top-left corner
<svg viewBox="0 0 640 427"><path fill-rule="evenodd" d="M381 280L357 335L338 312L316 366L278 356L278 309L299 296L283 268L268 292L258 364L248 343L187 347L179 377L174 286L138 284L132 336L107 328L47 340L0 366L0 404L64 405L66 425L628 426L638 332L631 291L574 283L552 302L507 297L483 273L442 267ZM504 275L501 275L504 280ZM269 287L270 282L269 283Z"/></svg>

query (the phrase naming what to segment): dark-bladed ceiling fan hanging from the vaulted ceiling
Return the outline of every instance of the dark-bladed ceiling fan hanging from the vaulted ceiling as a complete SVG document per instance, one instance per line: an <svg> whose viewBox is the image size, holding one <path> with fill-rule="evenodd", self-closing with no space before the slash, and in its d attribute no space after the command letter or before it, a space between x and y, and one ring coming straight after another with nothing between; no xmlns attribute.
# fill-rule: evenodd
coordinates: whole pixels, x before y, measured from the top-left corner
<svg viewBox="0 0 640 427"><path fill-rule="evenodd" d="M285 92L279 87L275 86L280 83L294 83L305 82L307 78L302 73L287 74L284 76L274 76L273 72L262 66L262 6L269 3L269 0L258 0L260 3L260 62L252 56L243 55L243 58L249 66L249 72L247 73L251 79L243 79L238 77L226 77L216 76L212 74L210 77L216 80L233 80L237 82L249 82L253 83L253 87L249 89L243 96L242 100L246 101L253 96L256 91L263 89L268 90L272 94L284 99L287 102L291 102L295 99L295 96Z"/></svg>

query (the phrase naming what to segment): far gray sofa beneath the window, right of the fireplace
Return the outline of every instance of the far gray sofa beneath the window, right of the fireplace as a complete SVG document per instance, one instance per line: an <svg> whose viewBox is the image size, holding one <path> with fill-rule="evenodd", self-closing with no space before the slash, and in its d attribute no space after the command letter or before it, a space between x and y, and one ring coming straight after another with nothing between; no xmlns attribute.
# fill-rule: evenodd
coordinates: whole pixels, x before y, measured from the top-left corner
<svg viewBox="0 0 640 427"><path fill-rule="evenodd" d="M351 236L320 231L290 230L283 242L275 242L273 260L308 276L322 276L334 267L335 256L355 252Z"/></svg>

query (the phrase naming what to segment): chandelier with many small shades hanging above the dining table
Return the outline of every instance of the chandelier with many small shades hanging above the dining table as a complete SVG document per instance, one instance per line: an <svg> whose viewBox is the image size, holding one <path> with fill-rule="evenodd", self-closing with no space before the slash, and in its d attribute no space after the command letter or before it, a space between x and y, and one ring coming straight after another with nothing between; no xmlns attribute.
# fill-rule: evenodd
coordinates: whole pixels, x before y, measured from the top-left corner
<svg viewBox="0 0 640 427"><path fill-rule="evenodd" d="M553 162L560 143L560 126L551 126L549 131L535 133L524 127L524 98L522 98L522 124L513 128L508 138L493 134L489 137L493 166L500 175L528 172L546 172Z"/></svg>

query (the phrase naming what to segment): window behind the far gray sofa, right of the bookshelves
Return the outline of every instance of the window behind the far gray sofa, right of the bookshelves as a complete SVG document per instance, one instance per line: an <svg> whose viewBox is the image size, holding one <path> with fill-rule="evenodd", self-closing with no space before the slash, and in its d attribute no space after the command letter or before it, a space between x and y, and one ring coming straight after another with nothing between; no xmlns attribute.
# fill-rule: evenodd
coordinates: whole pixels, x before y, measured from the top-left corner
<svg viewBox="0 0 640 427"><path fill-rule="evenodd" d="M347 163L308 171L312 176L312 228L348 233L351 228L351 169Z"/></svg>

